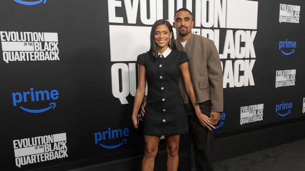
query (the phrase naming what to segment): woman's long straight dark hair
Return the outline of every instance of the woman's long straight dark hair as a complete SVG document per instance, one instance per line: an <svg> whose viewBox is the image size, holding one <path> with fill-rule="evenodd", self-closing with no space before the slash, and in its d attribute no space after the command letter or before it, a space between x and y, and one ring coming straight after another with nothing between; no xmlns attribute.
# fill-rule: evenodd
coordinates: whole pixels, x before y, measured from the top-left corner
<svg viewBox="0 0 305 171"><path fill-rule="evenodd" d="M172 31L172 25L164 20L158 20L152 25L152 30L150 32L150 49L148 51L149 55L151 56L150 59L156 60L156 57L158 56L158 50L157 50L157 45L155 42L155 31L158 25L166 25L168 27L169 32L172 32L172 41L171 43L168 42L168 47L171 48L172 50L177 50L176 44L175 44L175 37L174 37L174 32Z"/></svg>

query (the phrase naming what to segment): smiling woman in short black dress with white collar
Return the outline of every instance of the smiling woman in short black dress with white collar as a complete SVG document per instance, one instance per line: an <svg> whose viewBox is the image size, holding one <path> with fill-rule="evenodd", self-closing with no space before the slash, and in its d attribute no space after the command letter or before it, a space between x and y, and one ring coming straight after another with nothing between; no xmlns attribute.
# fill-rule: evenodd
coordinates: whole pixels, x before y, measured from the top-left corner
<svg viewBox="0 0 305 171"><path fill-rule="evenodd" d="M186 110L179 88L180 73L183 75L185 89L195 111L201 111L199 105L195 104L194 88L188 70L188 56L186 52L177 50L170 23L166 20L156 21L152 26L150 41L150 50L137 58L139 77L132 121L133 126L137 128L137 112L145 95L147 81L148 96L143 127L145 153L142 170L153 170L160 136L165 135L167 170L176 171L180 135L188 131ZM204 119L209 124L211 119L208 116Z"/></svg>

